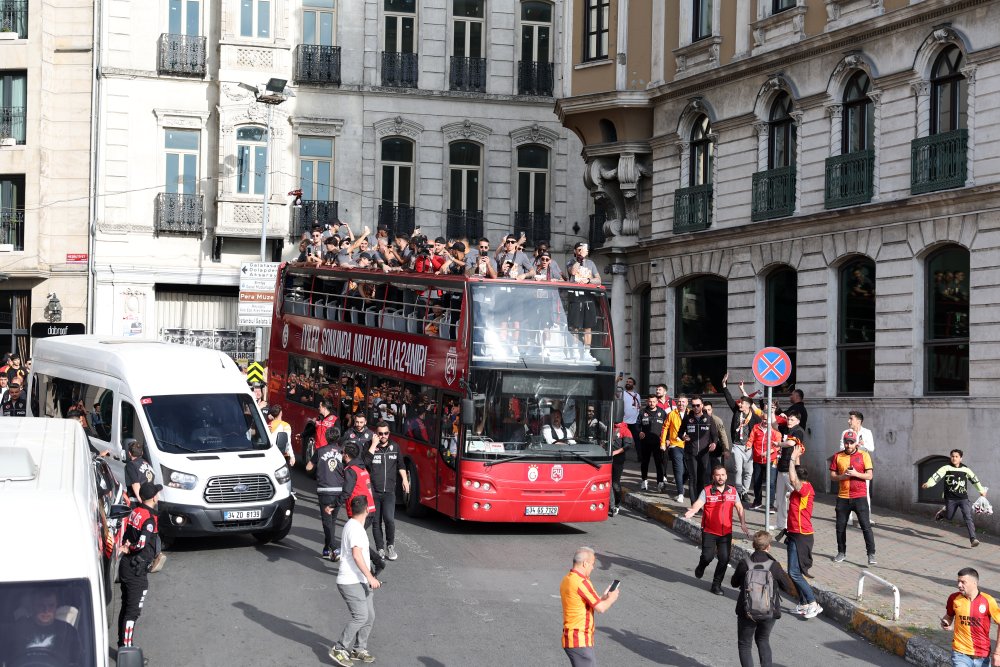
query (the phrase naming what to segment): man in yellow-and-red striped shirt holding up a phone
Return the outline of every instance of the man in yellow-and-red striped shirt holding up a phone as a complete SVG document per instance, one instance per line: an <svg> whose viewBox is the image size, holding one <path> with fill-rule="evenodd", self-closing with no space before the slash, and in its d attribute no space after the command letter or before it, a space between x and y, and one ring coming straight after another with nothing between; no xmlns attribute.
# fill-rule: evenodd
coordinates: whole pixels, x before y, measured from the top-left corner
<svg viewBox="0 0 1000 667"><path fill-rule="evenodd" d="M596 667L594 653L594 612L601 614L618 599L618 591L598 595L590 583L596 555L590 547L580 547L573 556L573 569L559 585L563 605L563 650L573 667Z"/></svg>

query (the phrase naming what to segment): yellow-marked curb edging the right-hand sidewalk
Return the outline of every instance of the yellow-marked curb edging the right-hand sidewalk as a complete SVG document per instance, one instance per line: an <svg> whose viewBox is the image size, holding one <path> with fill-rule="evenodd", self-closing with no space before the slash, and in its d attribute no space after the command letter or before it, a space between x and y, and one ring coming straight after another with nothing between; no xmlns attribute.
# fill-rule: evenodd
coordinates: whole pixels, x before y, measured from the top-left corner
<svg viewBox="0 0 1000 667"><path fill-rule="evenodd" d="M677 510L650 502L632 491L625 491L625 506L645 514L650 519L670 528L689 541L701 542L701 527L685 519ZM735 564L749 555L749 551L735 541L729 555L729 562ZM867 639L882 650L898 655L907 662L919 667L948 667L951 665L951 653L937 644L914 635L901 628L893 627L873 614L859 607L844 596L825 590L822 585L810 582L816 599L823 607L823 615L833 620L844 629Z"/></svg>

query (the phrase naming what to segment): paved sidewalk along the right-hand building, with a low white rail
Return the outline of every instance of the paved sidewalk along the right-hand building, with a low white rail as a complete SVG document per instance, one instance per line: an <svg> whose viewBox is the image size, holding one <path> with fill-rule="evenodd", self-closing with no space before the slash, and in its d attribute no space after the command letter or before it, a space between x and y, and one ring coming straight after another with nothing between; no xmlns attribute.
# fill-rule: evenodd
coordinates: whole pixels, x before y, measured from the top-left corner
<svg viewBox="0 0 1000 667"><path fill-rule="evenodd" d="M676 496L674 485L669 487L674 496L639 492L636 464L634 460L629 463L623 477L627 490L625 504L671 527L674 532L699 542L700 515L691 521L683 518L688 504L681 505L673 499ZM965 526L957 520L954 523L935 523L933 510L930 509L925 516L918 516L874 507L872 531L878 565L868 567L864 536L860 528L850 524L847 528L847 561L837 564L832 560L837 553L834 501L834 496L821 494L813 511L815 547L811 574L815 578L810 584L825 608L824 615L886 651L904 656L913 664L928 667L950 665L951 635L939 627L945 602L957 590L955 580L958 570L963 567L974 567L979 571L984 591L995 594L1000 590L1000 579L997 579L1000 575L996 569L996 563L1000 562L997 538L981 533L979 539L982 544L973 549L969 546ZM960 518L961 514L957 514L956 519ZM774 521L773 515L771 520ZM745 554L738 547L751 547L739 531L738 522L734 523L734 538L738 539L734 539L731 562L735 563ZM747 512L751 534L763 528L763 523L763 512ZM775 558L785 566L785 545L775 543L771 549ZM692 561L691 565L693 567L695 562ZM865 569L899 588L898 621L892 620L891 591L872 579L865 579L863 601L857 601L858 577Z"/></svg>

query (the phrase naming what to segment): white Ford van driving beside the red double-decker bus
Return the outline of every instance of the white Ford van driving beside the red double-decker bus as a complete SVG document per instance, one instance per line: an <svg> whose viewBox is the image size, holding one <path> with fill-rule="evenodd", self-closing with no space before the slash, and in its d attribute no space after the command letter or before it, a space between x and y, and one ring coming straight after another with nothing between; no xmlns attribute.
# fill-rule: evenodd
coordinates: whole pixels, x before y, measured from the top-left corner
<svg viewBox="0 0 1000 667"><path fill-rule="evenodd" d="M102 336L35 344L28 414L87 414L98 449L122 457L143 444L163 485L160 535L253 533L292 527L295 496L246 381L227 355L186 345Z"/></svg>

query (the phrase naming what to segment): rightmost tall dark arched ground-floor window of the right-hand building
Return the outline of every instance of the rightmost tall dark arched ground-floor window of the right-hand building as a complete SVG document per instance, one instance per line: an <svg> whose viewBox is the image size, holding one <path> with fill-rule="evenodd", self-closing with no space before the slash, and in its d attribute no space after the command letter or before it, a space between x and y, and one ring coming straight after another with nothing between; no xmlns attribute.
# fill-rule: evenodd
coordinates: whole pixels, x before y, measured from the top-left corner
<svg viewBox="0 0 1000 667"><path fill-rule="evenodd" d="M927 259L927 394L969 393L969 251L957 246Z"/></svg>

